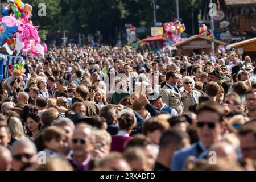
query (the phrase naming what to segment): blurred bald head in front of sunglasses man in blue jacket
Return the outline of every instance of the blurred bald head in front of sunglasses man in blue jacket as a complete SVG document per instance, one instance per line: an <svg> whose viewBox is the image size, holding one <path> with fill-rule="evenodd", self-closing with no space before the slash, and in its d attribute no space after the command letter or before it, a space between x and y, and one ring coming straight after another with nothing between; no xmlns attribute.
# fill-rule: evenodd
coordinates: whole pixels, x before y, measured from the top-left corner
<svg viewBox="0 0 256 182"><path fill-rule="evenodd" d="M217 158L223 158L228 160L230 163L234 163L237 161L237 154L234 146L221 142L215 143L212 145L210 151L215 151L217 154Z"/></svg>

